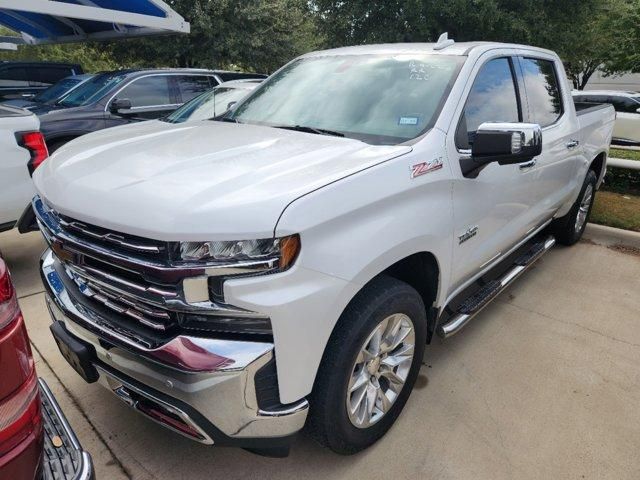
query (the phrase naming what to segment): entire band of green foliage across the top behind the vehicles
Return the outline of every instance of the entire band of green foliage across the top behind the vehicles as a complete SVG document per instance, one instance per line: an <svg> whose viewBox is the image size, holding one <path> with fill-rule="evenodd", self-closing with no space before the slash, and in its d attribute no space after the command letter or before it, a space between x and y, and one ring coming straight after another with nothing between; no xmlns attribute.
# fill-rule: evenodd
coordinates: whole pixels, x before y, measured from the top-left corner
<svg viewBox="0 0 640 480"><path fill-rule="evenodd" d="M0 51L0 59L73 61L88 71L166 66L270 73L318 48L433 41L448 31L457 41L555 50L579 89L598 68L640 72L640 0L166 1L191 23L190 35L22 47Z"/></svg>

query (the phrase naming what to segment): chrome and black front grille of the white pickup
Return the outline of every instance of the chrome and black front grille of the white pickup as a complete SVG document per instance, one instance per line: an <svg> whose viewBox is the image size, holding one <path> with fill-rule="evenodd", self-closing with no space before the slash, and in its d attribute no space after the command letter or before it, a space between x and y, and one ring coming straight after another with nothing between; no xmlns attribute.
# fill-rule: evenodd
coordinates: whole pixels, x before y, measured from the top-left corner
<svg viewBox="0 0 640 480"><path fill-rule="evenodd" d="M268 316L207 296L209 278L225 275L225 265L176 262L176 244L79 222L52 211L37 197L33 208L55 254L56 269L75 285L70 291L82 308L100 312L101 329L145 348L162 345L183 330L214 336L242 328L270 335Z"/></svg>

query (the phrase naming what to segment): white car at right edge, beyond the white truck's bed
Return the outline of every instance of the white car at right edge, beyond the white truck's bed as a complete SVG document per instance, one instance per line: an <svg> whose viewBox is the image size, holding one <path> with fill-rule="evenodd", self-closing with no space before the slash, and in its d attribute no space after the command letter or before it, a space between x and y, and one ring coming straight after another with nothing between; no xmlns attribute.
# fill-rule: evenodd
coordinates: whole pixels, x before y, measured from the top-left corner
<svg viewBox="0 0 640 480"><path fill-rule="evenodd" d="M615 90L574 91L576 102L610 103L616 110L614 143L640 144L640 93Z"/></svg>

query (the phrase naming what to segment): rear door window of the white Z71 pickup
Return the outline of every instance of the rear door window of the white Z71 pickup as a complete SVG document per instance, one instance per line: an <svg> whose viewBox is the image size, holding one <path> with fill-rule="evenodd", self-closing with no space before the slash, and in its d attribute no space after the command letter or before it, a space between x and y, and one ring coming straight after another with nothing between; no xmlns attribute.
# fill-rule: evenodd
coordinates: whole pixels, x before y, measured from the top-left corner
<svg viewBox="0 0 640 480"><path fill-rule="evenodd" d="M533 121L547 127L563 112L555 66L552 61L539 58L523 58L521 64Z"/></svg>

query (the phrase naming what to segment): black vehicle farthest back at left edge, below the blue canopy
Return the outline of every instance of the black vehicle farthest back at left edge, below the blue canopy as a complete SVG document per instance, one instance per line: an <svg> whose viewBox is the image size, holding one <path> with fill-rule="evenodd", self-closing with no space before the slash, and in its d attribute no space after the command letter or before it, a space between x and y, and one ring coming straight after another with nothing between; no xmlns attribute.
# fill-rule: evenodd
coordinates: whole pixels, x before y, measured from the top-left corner
<svg viewBox="0 0 640 480"><path fill-rule="evenodd" d="M0 62L0 102L30 98L70 75L84 73L80 65L54 62Z"/></svg>

